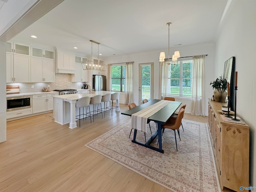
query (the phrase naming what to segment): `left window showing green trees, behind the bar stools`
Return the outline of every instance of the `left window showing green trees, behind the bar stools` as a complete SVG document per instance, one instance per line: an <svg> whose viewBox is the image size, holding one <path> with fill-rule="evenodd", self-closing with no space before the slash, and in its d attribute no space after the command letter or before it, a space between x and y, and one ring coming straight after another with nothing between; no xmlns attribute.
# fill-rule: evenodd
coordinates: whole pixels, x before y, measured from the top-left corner
<svg viewBox="0 0 256 192"><path fill-rule="evenodd" d="M111 90L124 92L125 65L111 67Z"/></svg>

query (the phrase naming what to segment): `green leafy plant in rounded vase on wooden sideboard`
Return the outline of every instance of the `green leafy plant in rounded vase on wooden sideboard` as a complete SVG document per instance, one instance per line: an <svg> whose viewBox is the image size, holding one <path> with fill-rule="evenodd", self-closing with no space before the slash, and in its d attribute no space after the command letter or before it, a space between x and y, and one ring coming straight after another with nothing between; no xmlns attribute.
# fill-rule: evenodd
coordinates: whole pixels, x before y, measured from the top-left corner
<svg viewBox="0 0 256 192"><path fill-rule="evenodd" d="M226 78L220 76L219 78L216 78L216 80L210 82L210 85L212 85L212 89L215 89L213 92L215 101L225 102L228 95Z"/></svg>

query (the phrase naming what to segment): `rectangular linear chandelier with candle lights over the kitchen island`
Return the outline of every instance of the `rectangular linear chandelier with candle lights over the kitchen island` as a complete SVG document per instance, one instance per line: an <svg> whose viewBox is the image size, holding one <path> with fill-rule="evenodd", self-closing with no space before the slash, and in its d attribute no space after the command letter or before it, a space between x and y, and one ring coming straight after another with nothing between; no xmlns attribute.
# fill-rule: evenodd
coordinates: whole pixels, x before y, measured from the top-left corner
<svg viewBox="0 0 256 192"><path fill-rule="evenodd" d="M90 40L90 42L98 44L98 60L92 58L92 52L91 52L91 60L86 60L86 62L82 62L82 68L83 70L96 70L96 71L106 71L106 68L104 70L104 62L99 59L99 42L96 42L94 40Z"/></svg>

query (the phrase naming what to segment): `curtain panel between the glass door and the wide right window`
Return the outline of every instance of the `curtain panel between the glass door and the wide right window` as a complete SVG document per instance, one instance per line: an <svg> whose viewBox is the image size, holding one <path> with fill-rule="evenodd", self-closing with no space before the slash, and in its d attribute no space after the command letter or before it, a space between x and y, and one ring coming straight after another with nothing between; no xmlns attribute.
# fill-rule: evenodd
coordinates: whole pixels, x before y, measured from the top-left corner
<svg viewBox="0 0 256 192"><path fill-rule="evenodd" d="M167 85L168 85L168 58L164 59L164 62L159 62L159 94L158 98L163 99L167 96Z"/></svg>

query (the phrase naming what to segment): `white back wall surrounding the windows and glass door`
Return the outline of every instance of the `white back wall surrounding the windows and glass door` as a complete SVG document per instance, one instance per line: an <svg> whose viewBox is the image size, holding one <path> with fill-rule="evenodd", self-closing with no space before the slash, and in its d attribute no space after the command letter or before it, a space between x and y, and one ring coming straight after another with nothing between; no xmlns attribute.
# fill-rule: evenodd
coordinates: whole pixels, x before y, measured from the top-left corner
<svg viewBox="0 0 256 192"><path fill-rule="evenodd" d="M198 44L192 46L180 46L174 48L170 48L170 55L174 53L174 51L179 50L181 57L186 56L194 56L194 55L204 55L208 54L206 57L206 78L205 78L205 90L206 90L206 98L211 98L213 91L210 82L214 79L214 58L215 58L215 49L214 44ZM159 54L160 51L165 51L166 56L168 57L168 47L166 50L158 50L155 52L147 52L141 54L133 54L133 55L125 55L125 56L113 56L109 58L105 58L105 64L109 63L120 63L120 62L134 62L134 102L139 104L139 64L154 62L154 98L158 98L158 84L159 84ZM223 65L224 70L224 65ZM107 75L107 74L106 74ZM186 112L191 111L191 100L178 98L177 101L181 101L182 104L187 104ZM206 99L206 114L208 115L208 99Z"/></svg>

